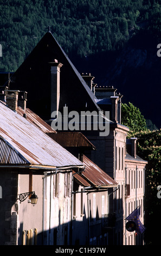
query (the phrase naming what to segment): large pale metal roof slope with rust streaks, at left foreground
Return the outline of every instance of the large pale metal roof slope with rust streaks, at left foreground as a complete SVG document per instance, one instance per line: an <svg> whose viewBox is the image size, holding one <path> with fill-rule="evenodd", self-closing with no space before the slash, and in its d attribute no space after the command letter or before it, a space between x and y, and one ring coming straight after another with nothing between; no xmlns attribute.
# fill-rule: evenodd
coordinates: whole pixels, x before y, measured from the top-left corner
<svg viewBox="0 0 161 256"><path fill-rule="evenodd" d="M0 102L0 136L31 165L70 167L83 164L38 127Z"/></svg>

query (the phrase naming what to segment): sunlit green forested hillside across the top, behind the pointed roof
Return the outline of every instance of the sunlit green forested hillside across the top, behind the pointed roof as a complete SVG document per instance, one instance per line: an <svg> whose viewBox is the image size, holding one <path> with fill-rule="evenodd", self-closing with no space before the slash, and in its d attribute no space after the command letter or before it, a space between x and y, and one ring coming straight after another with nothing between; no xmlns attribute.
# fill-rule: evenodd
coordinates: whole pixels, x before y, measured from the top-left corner
<svg viewBox="0 0 161 256"><path fill-rule="evenodd" d="M122 48L146 22L160 32L157 0L1 0L0 71L15 71L48 31L72 56ZM149 23L147 23L149 21ZM150 29L151 30L151 29Z"/></svg>

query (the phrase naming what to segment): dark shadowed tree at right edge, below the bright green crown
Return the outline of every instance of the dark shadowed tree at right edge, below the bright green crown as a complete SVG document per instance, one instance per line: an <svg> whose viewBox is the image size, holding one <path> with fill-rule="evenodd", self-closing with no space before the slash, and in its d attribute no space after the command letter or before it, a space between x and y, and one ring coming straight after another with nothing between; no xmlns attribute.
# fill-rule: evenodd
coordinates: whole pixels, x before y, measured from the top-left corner
<svg viewBox="0 0 161 256"><path fill-rule="evenodd" d="M161 216L161 199L157 197L161 185L161 130L135 133L138 138L138 155L148 163L145 170L145 225L146 243L158 245ZM151 234L155 235L152 236Z"/></svg>

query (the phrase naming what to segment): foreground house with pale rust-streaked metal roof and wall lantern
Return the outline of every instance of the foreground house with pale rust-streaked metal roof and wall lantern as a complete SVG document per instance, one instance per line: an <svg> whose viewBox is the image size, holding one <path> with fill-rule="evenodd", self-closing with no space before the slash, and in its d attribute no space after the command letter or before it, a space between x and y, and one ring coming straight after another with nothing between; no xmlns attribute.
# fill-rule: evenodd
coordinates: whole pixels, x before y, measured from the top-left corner
<svg viewBox="0 0 161 256"><path fill-rule="evenodd" d="M73 168L84 166L44 133L51 127L43 126L43 120L19 114L17 99L17 90L8 91L7 103L0 102L1 245L48 245L54 228L58 243L64 244L71 209L70 197L64 196L69 189L65 173L72 177ZM38 197L34 207L33 197Z"/></svg>

